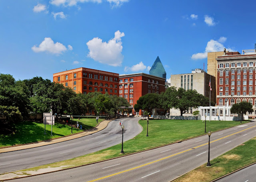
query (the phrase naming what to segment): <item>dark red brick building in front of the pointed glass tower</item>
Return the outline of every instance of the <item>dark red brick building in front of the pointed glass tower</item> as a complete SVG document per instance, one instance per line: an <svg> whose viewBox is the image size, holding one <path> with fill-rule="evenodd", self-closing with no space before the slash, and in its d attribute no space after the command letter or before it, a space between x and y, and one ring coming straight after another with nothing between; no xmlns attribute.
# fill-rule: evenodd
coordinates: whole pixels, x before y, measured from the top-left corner
<svg viewBox="0 0 256 182"><path fill-rule="evenodd" d="M141 96L164 91L165 78L145 73L119 75L119 96L126 98L132 107ZM142 115L141 110L139 115Z"/></svg>

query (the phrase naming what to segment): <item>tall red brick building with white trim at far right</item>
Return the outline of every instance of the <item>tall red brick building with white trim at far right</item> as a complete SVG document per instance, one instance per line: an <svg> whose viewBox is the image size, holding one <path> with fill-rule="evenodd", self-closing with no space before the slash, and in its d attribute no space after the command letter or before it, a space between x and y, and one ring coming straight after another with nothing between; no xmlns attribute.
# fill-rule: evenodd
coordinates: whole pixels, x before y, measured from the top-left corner
<svg viewBox="0 0 256 182"><path fill-rule="evenodd" d="M217 105L232 106L239 102L250 102L254 112L249 118L256 117L256 52L243 50L228 52L216 58L217 67Z"/></svg>

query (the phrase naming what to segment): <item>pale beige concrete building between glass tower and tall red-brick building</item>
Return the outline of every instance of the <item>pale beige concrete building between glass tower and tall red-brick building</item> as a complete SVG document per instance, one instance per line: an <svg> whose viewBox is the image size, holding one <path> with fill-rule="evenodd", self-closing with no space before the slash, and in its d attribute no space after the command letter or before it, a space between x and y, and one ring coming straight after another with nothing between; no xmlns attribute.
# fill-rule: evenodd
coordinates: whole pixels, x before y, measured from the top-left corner
<svg viewBox="0 0 256 182"><path fill-rule="evenodd" d="M189 90L189 89L196 90L199 94L202 94L210 98L210 87L209 87L210 79L211 79L211 86L212 86L211 101L216 103L215 76L212 76L206 73L202 69L194 69L192 70L192 73L187 73L187 74L171 75L170 86L175 86L177 89L184 88L185 90ZM194 112L195 110L196 109L191 109L184 115L192 115L192 112ZM170 115L180 115L180 110L171 109Z"/></svg>

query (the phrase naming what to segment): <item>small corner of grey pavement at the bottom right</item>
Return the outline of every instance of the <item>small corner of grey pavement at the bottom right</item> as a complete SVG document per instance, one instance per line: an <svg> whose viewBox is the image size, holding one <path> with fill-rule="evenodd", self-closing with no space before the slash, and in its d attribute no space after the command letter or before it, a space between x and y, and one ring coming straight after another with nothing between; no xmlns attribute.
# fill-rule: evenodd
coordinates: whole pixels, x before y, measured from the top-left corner
<svg viewBox="0 0 256 182"><path fill-rule="evenodd" d="M255 182L256 181L256 164L239 170L233 174L221 178L217 182Z"/></svg>

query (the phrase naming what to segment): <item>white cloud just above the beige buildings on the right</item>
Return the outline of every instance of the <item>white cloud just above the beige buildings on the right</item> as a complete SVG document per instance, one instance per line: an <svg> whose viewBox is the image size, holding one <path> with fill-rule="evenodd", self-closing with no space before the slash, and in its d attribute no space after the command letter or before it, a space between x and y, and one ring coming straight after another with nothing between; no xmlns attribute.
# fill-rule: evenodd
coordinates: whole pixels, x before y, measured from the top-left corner
<svg viewBox="0 0 256 182"><path fill-rule="evenodd" d="M223 38L220 37L219 40L223 40ZM208 41L208 43L206 45L204 53L193 54L191 56L191 59L194 59L194 60L196 60L196 59L204 59L204 58L207 58L207 53L224 51L224 48L226 48L226 47L224 47L224 45L222 43L220 43L218 41L215 41L215 40L210 40L210 41ZM226 48L226 49L227 49L227 51L230 51L230 52L234 52L235 51L234 49L231 49L231 48Z"/></svg>

